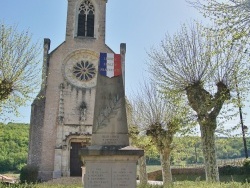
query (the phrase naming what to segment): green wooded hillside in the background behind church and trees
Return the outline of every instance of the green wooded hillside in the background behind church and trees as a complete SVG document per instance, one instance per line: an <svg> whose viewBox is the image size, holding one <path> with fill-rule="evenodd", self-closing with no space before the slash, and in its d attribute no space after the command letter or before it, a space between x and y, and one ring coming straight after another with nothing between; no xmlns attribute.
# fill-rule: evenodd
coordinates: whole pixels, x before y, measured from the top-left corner
<svg viewBox="0 0 250 188"><path fill-rule="evenodd" d="M131 128L131 127L130 127ZM133 128L133 127L132 127ZM149 137L135 134L130 130L132 144L145 149L148 165L160 163L159 153ZM135 127L134 127L135 128ZM133 133L134 132L134 133ZM29 126L27 124L0 123L0 171L20 171L27 162ZM250 140L247 138L247 140ZM172 165L203 163L202 147L199 137L185 136L174 138L174 149L171 156ZM244 157L241 137L218 138L216 140L218 159ZM250 151L250 142L247 143ZM197 157L197 161L196 161Z"/></svg>

